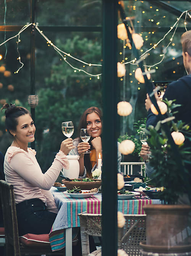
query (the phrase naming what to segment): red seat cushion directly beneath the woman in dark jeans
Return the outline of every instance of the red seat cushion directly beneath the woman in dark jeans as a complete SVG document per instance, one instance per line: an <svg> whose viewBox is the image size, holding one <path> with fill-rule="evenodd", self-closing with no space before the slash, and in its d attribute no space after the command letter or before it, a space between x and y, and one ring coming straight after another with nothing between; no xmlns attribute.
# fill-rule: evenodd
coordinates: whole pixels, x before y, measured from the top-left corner
<svg viewBox="0 0 191 256"><path fill-rule="evenodd" d="M50 246L49 234L26 234L19 237L21 243L26 246Z"/></svg>

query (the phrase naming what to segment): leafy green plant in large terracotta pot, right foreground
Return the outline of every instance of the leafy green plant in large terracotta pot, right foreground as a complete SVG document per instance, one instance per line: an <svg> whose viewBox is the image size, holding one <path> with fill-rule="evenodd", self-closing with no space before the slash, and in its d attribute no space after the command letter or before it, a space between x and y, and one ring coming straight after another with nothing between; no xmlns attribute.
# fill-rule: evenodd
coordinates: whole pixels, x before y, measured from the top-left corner
<svg viewBox="0 0 191 256"><path fill-rule="evenodd" d="M187 164L191 164L191 150L184 146L184 138L189 140L190 129L182 121L174 122L172 111L178 105L173 101L164 102L168 107L166 118L159 121L155 127L149 126L144 130L149 135L147 142L151 147L150 165L155 169L153 182L156 187L165 187L165 190L160 192L160 199L164 200L165 205L144 206L147 215L147 241L142 244L142 248L143 252L150 253L186 253L191 252L188 237L191 231L188 225L191 207L177 205L177 201L181 195L189 193L185 186L188 178L185 180L185 177L188 175ZM164 123L168 124L174 145L169 142ZM173 147L176 147L178 155L174 154ZM181 160L181 170L176 157Z"/></svg>

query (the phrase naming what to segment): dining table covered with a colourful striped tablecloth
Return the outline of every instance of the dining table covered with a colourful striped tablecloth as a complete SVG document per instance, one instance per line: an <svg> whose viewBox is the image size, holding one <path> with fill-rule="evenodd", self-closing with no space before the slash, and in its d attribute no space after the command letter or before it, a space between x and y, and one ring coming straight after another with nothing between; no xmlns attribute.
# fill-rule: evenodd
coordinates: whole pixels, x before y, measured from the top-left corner
<svg viewBox="0 0 191 256"><path fill-rule="evenodd" d="M52 251L66 249L66 255L72 256L72 240L80 227L79 213L102 213L102 194L95 193L89 198L72 198L68 193L60 192L52 187L51 192L58 206L58 214L49 233ZM145 214L144 205L163 204L159 199L136 196L128 200L118 200L117 210L123 214Z"/></svg>

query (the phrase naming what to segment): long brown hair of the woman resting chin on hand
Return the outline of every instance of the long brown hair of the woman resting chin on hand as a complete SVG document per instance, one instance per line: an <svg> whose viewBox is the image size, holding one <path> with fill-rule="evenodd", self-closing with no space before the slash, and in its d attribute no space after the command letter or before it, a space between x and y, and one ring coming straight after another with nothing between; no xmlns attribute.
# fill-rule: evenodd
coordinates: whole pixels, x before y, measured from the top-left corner
<svg viewBox="0 0 191 256"><path fill-rule="evenodd" d="M82 141L81 138L80 138L80 135L79 135L80 129L87 127L87 122L86 122L87 115L88 115L88 114L91 114L91 113L93 113L93 112L95 112L95 113L99 116L99 118L100 118L100 120L101 120L101 122L102 122L102 111L101 111L98 107L89 107L88 109L86 109L86 110L84 111L83 115L81 116L80 121L79 121L79 126L78 126L79 142ZM90 143L90 145L91 145L90 150L92 149L91 140L92 140L92 138L91 138L90 141L89 141L89 143ZM87 175L88 175L89 177L91 177L92 165L91 165L91 162L90 162L90 156L89 156L89 154L84 154L84 166L86 167Z"/></svg>

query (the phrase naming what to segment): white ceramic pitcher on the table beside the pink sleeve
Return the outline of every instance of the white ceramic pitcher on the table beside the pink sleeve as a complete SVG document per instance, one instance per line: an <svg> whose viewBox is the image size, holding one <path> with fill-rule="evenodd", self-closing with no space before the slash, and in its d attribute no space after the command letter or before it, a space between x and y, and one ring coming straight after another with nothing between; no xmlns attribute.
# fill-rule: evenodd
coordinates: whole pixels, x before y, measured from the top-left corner
<svg viewBox="0 0 191 256"><path fill-rule="evenodd" d="M65 177L68 177L70 179L78 178L79 177L79 155L67 155L68 162L70 164L70 167L68 170L62 169L63 170L63 175Z"/></svg>

